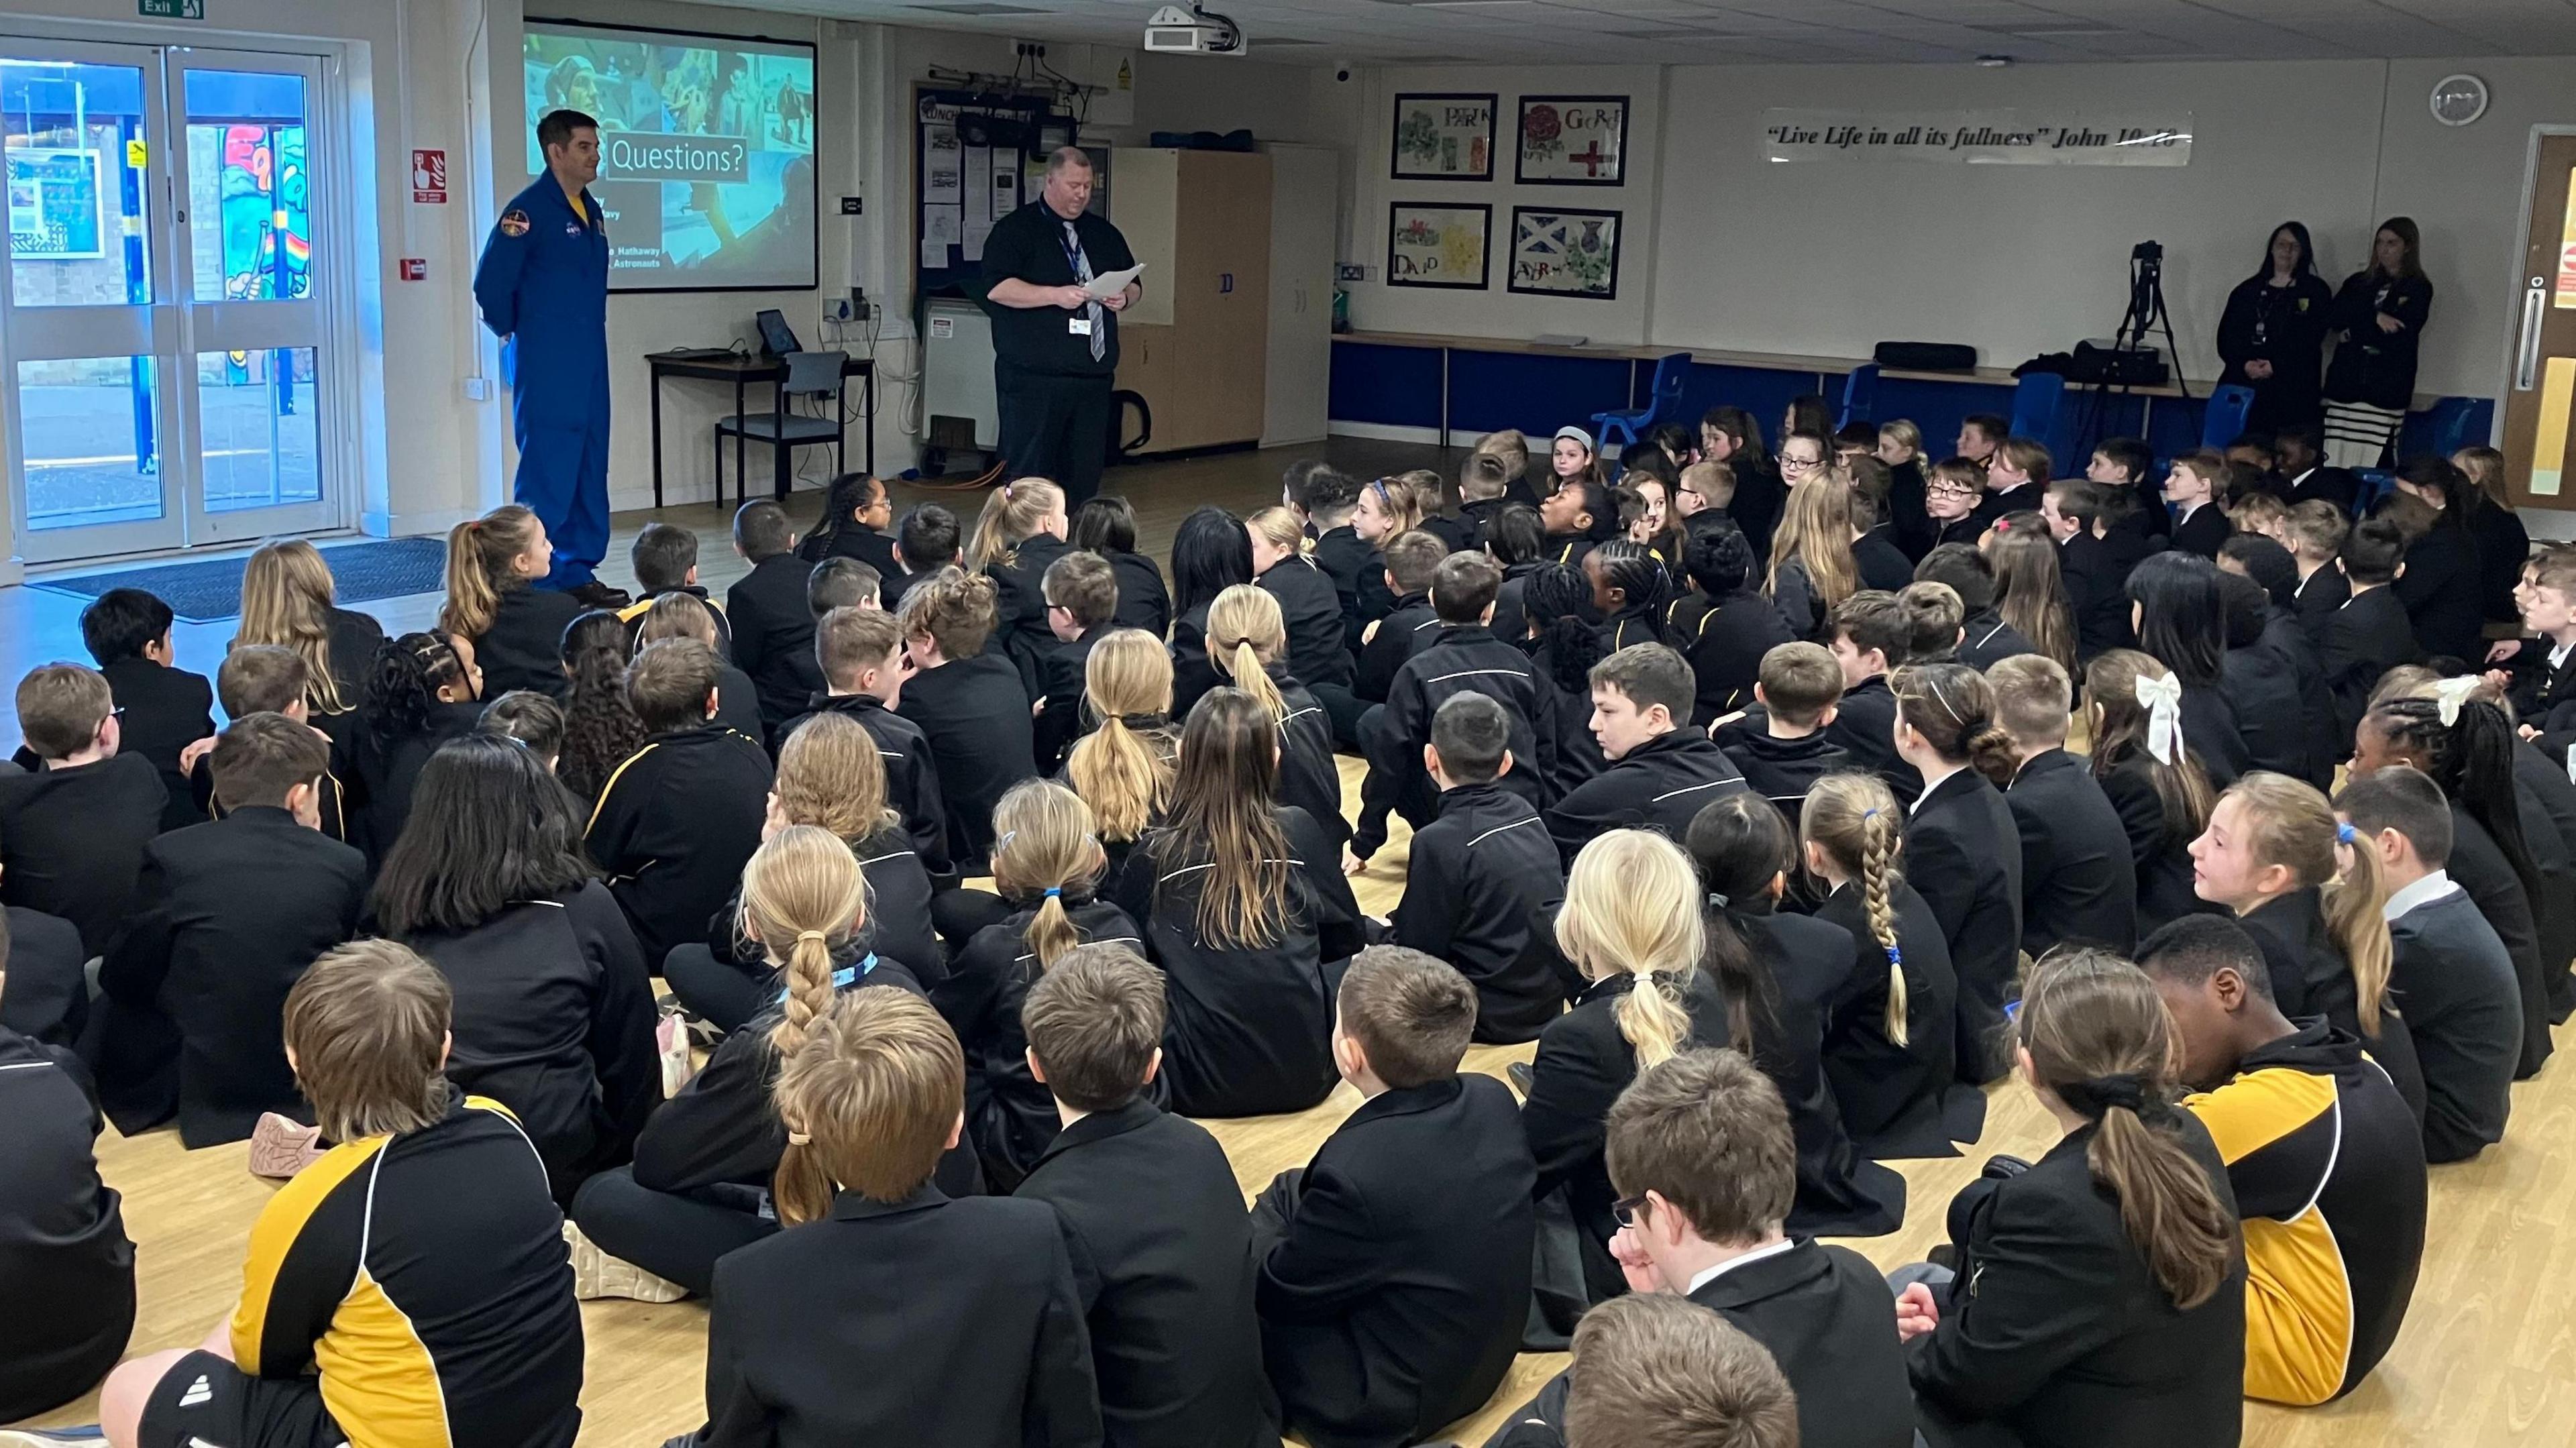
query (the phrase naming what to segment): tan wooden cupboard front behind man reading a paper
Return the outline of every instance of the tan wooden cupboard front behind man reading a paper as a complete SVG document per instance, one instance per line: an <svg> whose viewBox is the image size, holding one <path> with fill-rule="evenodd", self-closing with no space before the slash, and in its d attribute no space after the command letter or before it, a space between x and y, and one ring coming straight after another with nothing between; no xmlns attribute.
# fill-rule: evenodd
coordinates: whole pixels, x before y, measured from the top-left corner
<svg viewBox="0 0 2576 1448"><path fill-rule="evenodd" d="M1118 319L1118 386L1154 412L1146 453L1257 443L1270 358L1270 157L1121 147L1110 222L1144 263Z"/></svg>

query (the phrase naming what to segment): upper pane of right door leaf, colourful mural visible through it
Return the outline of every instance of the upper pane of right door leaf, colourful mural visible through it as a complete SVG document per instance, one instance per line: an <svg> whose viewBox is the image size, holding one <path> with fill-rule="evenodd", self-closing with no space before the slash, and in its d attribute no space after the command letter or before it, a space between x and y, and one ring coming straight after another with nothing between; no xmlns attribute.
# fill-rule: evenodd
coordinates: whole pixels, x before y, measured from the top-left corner
<svg viewBox="0 0 2576 1448"><path fill-rule="evenodd" d="M312 291L304 77L188 72L188 216L196 301Z"/></svg>

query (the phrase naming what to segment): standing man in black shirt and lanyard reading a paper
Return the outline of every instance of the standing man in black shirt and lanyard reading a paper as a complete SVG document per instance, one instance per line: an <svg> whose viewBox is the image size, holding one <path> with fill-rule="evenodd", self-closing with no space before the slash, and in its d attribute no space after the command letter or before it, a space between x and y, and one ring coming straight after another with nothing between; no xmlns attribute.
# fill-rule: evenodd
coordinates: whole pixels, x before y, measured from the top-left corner
<svg viewBox="0 0 2576 1448"><path fill-rule="evenodd" d="M1095 276L1136 258L1118 227L1084 211L1092 160L1064 147L1046 160L1046 188L1002 216L984 240L984 309L992 312L992 381L1002 405L1010 477L1046 477L1079 508L1100 492L1118 374L1118 312L1144 294L1128 281L1090 296Z"/></svg>

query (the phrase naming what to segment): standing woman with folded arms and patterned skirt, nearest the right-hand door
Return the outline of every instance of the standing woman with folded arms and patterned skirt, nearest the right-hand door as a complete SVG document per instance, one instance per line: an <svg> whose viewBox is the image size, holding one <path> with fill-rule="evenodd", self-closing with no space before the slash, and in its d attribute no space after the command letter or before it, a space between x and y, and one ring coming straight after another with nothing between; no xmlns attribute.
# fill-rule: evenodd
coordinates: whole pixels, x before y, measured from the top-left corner
<svg viewBox="0 0 2576 1448"><path fill-rule="evenodd" d="M2326 466L2380 466L2414 402L2416 350L2432 317L2424 237L2414 216L2391 216L2370 237L2370 265L2334 294L2326 327Z"/></svg>

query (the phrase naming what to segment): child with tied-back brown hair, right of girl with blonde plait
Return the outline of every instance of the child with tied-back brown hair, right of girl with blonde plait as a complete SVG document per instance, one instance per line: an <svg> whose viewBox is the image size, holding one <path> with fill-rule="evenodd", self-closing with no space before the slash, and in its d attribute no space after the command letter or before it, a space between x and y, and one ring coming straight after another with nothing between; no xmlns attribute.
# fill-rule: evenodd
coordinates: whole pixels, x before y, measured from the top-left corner
<svg viewBox="0 0 2576 1448"><path fill-rule="evenodd" d="M1906 819L1906 873L1950 940L1958 1080L2004 1074L2004 1000L2022 951L2022 835L1991 776L2012 765L1986 675L1965 665L1896 670L1896 752L1922 773Z"/></svg>

